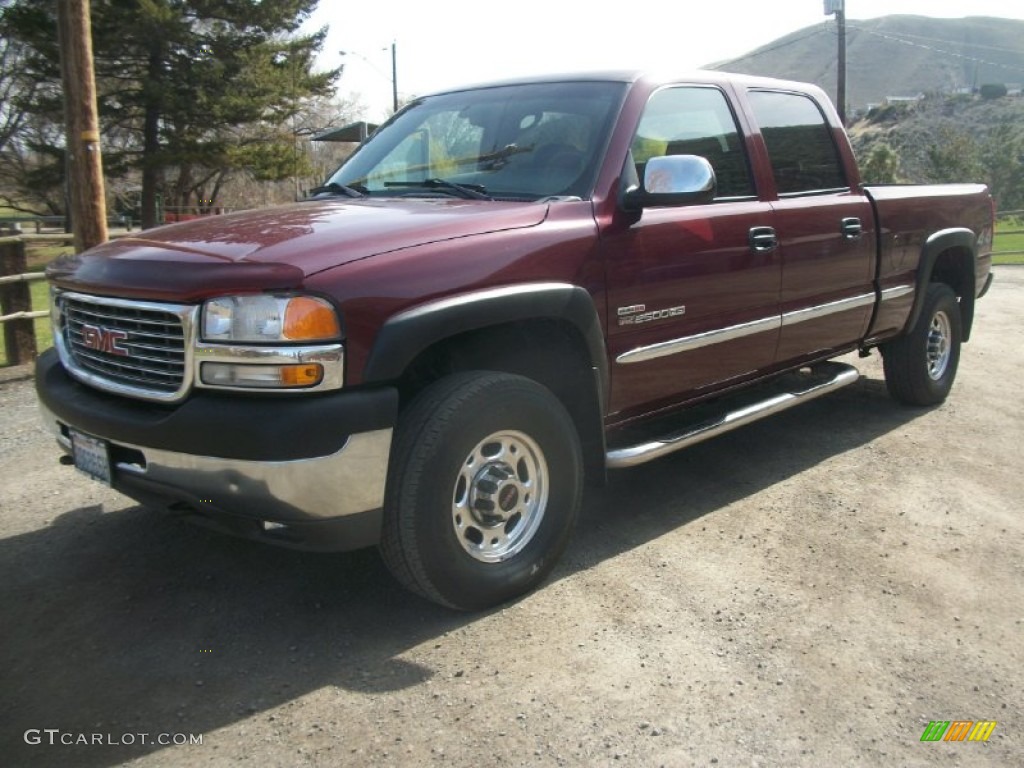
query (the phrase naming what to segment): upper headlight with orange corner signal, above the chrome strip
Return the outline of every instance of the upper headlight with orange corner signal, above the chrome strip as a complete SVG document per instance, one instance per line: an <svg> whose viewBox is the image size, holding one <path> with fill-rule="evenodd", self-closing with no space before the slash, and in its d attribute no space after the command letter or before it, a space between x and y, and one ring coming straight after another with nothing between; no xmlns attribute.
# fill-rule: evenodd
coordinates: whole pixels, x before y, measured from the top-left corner
<svg viewBox="0 0 1024 768"><path fill-rule="evenodd" d="M341 338L334 307L313 296L221 296L203 305L203 340L310 342Z"/></svg>

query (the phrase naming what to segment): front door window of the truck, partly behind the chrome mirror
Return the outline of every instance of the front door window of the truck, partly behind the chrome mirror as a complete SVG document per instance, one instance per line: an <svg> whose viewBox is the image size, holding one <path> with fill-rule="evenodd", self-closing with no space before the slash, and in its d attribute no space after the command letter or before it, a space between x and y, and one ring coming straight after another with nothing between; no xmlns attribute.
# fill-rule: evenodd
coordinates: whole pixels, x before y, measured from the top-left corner
<svg viewBox="0 0 1024 768"><path fill-rule="evenodd" d="M640 118L632 152L641 179L651 158L697 155L715 169L716 200L754 195L735 118L717 88L665 88L654 93Z"/></svg>

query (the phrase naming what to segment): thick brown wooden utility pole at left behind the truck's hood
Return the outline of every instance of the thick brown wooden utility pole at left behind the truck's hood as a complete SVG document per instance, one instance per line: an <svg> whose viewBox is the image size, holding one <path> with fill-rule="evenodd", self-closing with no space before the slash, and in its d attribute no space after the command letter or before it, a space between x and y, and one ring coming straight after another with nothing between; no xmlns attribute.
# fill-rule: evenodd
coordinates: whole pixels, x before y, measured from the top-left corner
<svg viewBox="0 0 1024 768"><path fill-rule="evenodd" d="M65 143L71 157L69 213L75 250L81 253L108 239L89 0L57 0L57 40L65 92Z"/></svg>

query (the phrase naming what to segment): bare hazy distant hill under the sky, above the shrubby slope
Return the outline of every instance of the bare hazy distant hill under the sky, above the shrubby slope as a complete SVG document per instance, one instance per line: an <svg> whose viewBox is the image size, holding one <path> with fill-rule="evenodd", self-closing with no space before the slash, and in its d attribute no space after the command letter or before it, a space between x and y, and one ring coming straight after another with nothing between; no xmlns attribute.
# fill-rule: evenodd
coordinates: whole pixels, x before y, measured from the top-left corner
<svg viewBox="0 0 1024 768"><path fill-rule="evenodd" d="M713 69L810 81L835 99L836 35L828 20ZM887 96L985 83L1024 83L1024 22L906 15L847 22L847 101L854 111Z"/></svg>

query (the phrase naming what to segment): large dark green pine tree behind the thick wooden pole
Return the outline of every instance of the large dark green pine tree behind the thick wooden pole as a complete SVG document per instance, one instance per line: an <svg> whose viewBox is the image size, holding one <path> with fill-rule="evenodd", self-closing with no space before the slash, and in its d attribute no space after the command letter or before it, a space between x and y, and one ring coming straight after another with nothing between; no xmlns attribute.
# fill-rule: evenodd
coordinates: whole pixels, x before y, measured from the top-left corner
<svg viewBox="0 0 1024 768"><path fill-rule="evenodd" d="M143 226L158 223L161 195L170 205L214 201L227 173L254 163L268 178L302 170L293 121L339 74L313 72L326 30L298 34L316 3L93 0L104 165L140 173ZM50 86L37 111L59 122L52 5L13 0L7 15L34 78Z"/></svg>

